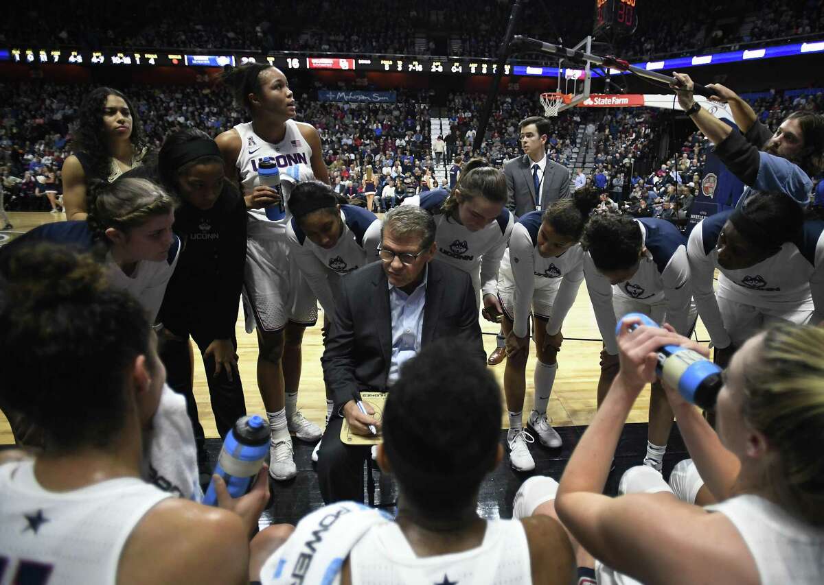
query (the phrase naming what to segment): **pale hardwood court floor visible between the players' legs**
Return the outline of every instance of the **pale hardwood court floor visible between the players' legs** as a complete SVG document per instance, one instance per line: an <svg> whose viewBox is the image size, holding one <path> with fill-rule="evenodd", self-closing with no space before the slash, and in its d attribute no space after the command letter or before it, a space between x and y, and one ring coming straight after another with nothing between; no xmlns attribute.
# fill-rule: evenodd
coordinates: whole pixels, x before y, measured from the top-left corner
<svg viewBox="0 0 824 585"><path fill-rule="evenodd" d="M63 221L65 216L48 212L9 213L13 231L25 232L43 223ZM0 235L3 233L0 232ZM319 323L322 322L322 311ZM484 347L487 355L494 351L495 336L498 326L480 318L481 329L484 335ZM698 339L707 340L709 336L703 323L698 323ZM601 335L595 323L595 315L586 291L582 284L578 291L578 298L564 323L564 337L566 340L558 355L559 369L555 378L555 386L550 397L548 409L553 425L588 425L596 410L596 387L600 368L598 366L601 352ZM255 334L247 334L241 315L236 324L238 366L243 381L243 391L246 397L246 410L251 413L264 414L263 402L257 389L255 377L257 361L257 338ZM574 341L574 339L588 341ZM310 327L303 338L303 371L298 406L309 420L323 425L325 418L325 391L323 386L323 372L321 370L321 327ZM194 367L194 395L198 402L198 411L204 431L208 438L218 437L215 429L211 406L208 399L206 374L199 353L195 351ZM527 397L524 402L525 419L532 407L533 383L535 371L534 346L527 363ZM503 369L505 362L492 368L495 378L503 385ZM502 390L503 396L503 390ZM630 412L629 422L647 422L649 406L648 388L641 393ZM456 416L471 416L469 412L456 412ZM502 417L502 428L507 428L507 417ZM13 443L12 432L7 420L0 415L0 444Z"/></svg>

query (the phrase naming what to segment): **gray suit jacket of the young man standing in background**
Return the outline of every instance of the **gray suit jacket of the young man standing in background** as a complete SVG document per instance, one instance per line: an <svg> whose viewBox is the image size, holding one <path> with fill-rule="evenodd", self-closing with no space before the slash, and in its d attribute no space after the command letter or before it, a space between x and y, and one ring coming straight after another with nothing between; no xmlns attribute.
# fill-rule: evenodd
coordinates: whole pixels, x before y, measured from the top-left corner
<svg viewBox="0 0 824 585"><path fill-rule="evenodd" d="M529 156L516 156L503 163L503 174L507 179L508 202L507 208L512 211L516 219L535 211L540 204L541 209L550 207L564 197L569 197L569 170L554 160L546 160L544 180L541 183L541 199L535 197L535 183L532 181L532 161Z"/></svg>

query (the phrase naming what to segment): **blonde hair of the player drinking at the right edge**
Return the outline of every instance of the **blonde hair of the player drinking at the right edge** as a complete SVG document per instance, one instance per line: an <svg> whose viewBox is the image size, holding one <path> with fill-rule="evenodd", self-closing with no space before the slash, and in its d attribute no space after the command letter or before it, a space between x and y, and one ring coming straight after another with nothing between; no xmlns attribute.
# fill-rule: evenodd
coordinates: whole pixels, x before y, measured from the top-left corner
<svg viewBox="0 0 824 585"><path fill-rule="evenodd" d="M779 454L766 480L789 513L824 526L824 329L783 323L744 372L742 414Z"/></svg>

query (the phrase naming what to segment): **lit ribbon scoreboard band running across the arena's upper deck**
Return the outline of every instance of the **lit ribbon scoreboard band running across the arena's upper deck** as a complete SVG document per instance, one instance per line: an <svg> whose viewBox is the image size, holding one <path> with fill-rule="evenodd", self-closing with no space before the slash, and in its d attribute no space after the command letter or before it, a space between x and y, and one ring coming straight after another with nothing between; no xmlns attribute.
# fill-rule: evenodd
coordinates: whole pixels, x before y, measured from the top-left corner
<svg viewBox="0 0 824 585"><path fill-rule="evenodd" d="M804 43L781 44L761 49L741 49L725 53L707 53L690 55L687 57L667 58L658 61L631 63L647 71L683 70L702 65L718 65L719 63L737 63L769 59L776 57L796 57L811 53L824 53L824 40L815 40ZM11 49L0 48L0 62L12 63L57 63L76 65L114 65L114 66L182 66L192 67L223 67L241 63L269 63L284 71L300 69L338 69L358 71L382 71L427 73L436 75L494 75L498 65L494 59L486 58L436 58L420 56L380 56L376 58L360 58L354 56L329 57L326 55L311 55L304 53L301 57L294 55L267 55L265 53L224 53L222 55L195 55L185 53L170 53L160 49L134 50L113 49L110 51L85 51L82 49ZM562 74L568 70L564 69ZM569 69L570 74L574 70ZM623 75L625 72L612 69L611 75ZM558 67L542 67L531 63L507 63L503 67L503 75L518 75L528 77L557 77ZM592 72L592 77L602 77L600 72Z"/></svg>

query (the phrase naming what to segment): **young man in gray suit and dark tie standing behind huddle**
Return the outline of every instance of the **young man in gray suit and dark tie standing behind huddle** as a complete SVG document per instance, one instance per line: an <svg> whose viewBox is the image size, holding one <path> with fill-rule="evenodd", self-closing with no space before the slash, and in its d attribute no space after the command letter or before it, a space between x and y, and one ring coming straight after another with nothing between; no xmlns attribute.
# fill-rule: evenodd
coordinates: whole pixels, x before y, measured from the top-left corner
<svg viewBox="0 0 824 585"><path fill-rule="evenodd" d="M552 133L550 121L531 116L523 119L518 128L524 155L503 164L509 195L507 207L516 218L536 209L545 210L569 197L569 170L546 156L546 141ZM541 193L540 197L536 193Z"/></svg>

